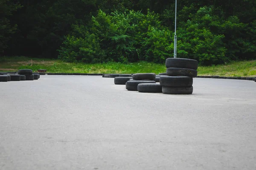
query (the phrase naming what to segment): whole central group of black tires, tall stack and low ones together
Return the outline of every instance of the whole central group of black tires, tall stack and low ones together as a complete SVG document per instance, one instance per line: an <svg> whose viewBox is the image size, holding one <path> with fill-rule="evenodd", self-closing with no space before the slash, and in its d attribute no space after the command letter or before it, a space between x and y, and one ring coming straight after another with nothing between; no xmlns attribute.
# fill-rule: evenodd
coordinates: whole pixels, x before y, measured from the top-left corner
<svg viewBox="0 0 256 170"><path fill-rule="evenodd" d="M198 61L194 59L166 59L166 73L105 74L114 78L116 85L128 91L163 94L192 94L193 77L197 76ZM159 82L159 83L156 83Z"/></svg>

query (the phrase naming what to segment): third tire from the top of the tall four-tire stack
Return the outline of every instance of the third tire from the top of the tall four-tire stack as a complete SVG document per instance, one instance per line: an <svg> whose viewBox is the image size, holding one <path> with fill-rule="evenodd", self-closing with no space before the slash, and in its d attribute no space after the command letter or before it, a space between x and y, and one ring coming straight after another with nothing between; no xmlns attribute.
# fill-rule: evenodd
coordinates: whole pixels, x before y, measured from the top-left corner
<svg viewBox="0 0 256 170"><path fill-rule="evenodd" d="M192 86L193 78L187 76L160 76L160 85L168 87Z"/></svg>

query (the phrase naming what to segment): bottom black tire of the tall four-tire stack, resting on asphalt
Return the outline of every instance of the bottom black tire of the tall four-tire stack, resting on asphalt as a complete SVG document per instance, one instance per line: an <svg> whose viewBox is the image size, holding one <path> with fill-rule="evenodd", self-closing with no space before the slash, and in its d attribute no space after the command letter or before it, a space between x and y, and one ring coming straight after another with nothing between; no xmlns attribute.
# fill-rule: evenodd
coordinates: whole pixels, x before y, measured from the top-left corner
<svg viewBox="0 0 256 170"><path fill-rule="evenodd" d="M162 87L163 94L192 94L193 86L189 87Z"/></svg>

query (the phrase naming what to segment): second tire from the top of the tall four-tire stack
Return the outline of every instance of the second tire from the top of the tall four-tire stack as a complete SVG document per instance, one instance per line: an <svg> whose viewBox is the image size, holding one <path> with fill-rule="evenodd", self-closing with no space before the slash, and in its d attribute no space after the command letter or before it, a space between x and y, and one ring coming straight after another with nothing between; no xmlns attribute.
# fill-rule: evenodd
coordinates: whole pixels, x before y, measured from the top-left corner
<svg viewBox="0 0 256 170"><path fill-rule="evenodd" d="M166 68L166 75L168 75L168 76L196 77L197 76L197 70L190 69L190 68L169 67L169 68Z"/></svg>

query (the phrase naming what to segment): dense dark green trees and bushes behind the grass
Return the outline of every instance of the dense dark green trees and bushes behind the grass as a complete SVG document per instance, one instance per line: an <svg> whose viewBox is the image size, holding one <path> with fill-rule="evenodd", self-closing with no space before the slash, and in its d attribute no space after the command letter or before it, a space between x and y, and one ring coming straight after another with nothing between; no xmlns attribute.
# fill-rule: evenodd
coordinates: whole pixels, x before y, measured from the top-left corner
<svg viewBox="0 0 256 170"><path fill-rule="evenodd" d="M177 0L177 11L179 57L256 58L256 0ZM0 55L163 62L174 18L175 0L0 0Z"/></svg>

